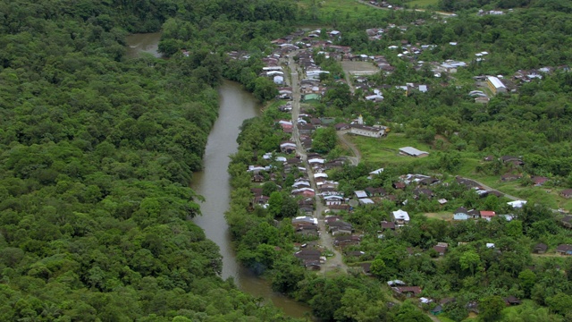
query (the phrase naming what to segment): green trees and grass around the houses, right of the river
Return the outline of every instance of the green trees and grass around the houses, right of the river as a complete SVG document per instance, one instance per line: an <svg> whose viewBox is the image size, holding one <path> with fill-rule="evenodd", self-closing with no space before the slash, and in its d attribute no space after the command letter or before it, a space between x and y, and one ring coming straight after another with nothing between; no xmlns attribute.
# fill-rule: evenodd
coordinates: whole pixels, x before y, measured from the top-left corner
<svg viewBox="0 0 572 322"><path fill-rule="evenodd" d="M290 293L299 301L307 301L315 315L324 320L428 320L420 313L417 302L405 301L387 309L388 303L396 300L387 286L379 282L392 278L422 285L424 294L433 299L456 298L454 304L444 309L440 316L442 320L461 321L467 317L484 321L567 320L571 314L566 308L572 299L569 291L572 262L569 258L531 255L537 242L546 242L552 248L572 241L569 230L559 225L559 216L546 207L552 207L551 202L538 199L523 209L512 210L506 205L509 199L479 199L474 192L452 183L452 178L448 177L462 172L477 178L493 175L498 178L498 175L515 169L496 162L479 165L478 160L485 155L517 154L525 161L521 171L527 176L547 175L552 179L549 186L560 189L570 186L568 147L571 142L566 133L572 127L566 111L572 78L566 64L570 57L567 34L572 26L568 13L545 8L544 5L534 5L499 17L460 12L458 19L450 19L446 24L435 21L420 26L410 26L408 22L430 19L430 14L391 12L384 13L386 15L381 21L375 21L367 19L368 13L363 13L361 20L352 18L355 13L338 14L334 19L333 15L320 15L319 7L312 9L316 14L311 18L316 22L341 30L344 36L336 44L350 46L354 52L366 55L386 55L388 61L396 66L391 75L377 74L369 78L374 84L396 86L407 81L426 83L432 90L426 94L404 96L400 90L387 89L383 91L383 102L374 105L359 99L359 92L352 96L347 85L339 84L337 79L343 75L340 64L316 55L316 63L331 73L322 78L328 87L322 101L309 106L307 111L315 116L337 118L339 122L363 114L366 123L390 125L397 132L396 137L401 138L397 140L417 142L430 148L433 156L410 162L397 157L380 162L375 157L364 156L368 161L366 164L346 166L330 174L341 183L346 195L363 190L367 185L396 192L398 201L410 201L405 209L415 215L411 225L399 233L385 233L383 241L380 241L377 235L379 222L389 219L391 210L397 209L395 202L383 202L381 206L342 214L344 220L356 225L366 235L355 250L365 251L367 255L348 260L349 265L371 262L377 281L353 271L349 275L315 275L299 267L291 255L293 242L305 240L300 240L290 226L289 218L296 214L296 205L290 204L289 194L277 191L272 184L265 184L262 187L265 195L272 197L269 208L249 207L252 183L246 173L247 166L272 164L265 163L260 156L276 151L278 144L288 139L275 127L274 121L289 116L279 114L273 107L267 109L265 116L243 125L240 150L232 157L229 168L234 191L227 218L243 263L267 275L275 290ZM408 29L391 31L381 40L367 39L367 28L390 22L408 25ZM534 40L539 38L543 40ZM472 62L467 70L459 70L452 77L445 75L445 80L435 79L428 68L416 70L412 68L413 64L391 55L388 47L399 45L402 39L413 44L436 44L433 50L416 57L417 60L452 58ZM448 46L455 40L459 41L458 46ZM472 58L474 53L484 50L491 56L485 61L475 62ZM252 60L233 64L255 66ZM475 86L474 75L511 74L519 69L538 69L547 65L558 66L559 71L544 74L542 81L520 86L515 94L492 97L486 106L475 104L472 97L467 97ZM247 87L252 84L239 76L235 80L243 81ZM358 146L360 142L368 148L370 145L383 145L383 142L359 139ZM273 165L280 173L281 164ZM378 179L368 181L366 175L379 166L389 166L390 169ZM444 174L442 180L450 185L437 192L455 200L444 208L446 211L459 206L490 208L500 213L510 211L517 219L509 222L499 217L491 222L450 224L427 218L422 214L439 211L436 201L414 200L412 191L395 191L392 188L400 174L415 172ZM278 179L277 183L287 187L294 177L295 174L289 175L283 181ZM523 185L523 193L534 189L526 188L530 185L526 180ZM458 244L458 247L439 258L432 246L440 241ZM485 247L486 243L494 243L495 249ZM409 256L408 248L418 256ZM523 299L523 304L505 309L502 297L508 295L517 295ZM471 318L469 304L474 301L480 302L479 315ZM433 309L434 306L422 306L422 309Z"/></svg>

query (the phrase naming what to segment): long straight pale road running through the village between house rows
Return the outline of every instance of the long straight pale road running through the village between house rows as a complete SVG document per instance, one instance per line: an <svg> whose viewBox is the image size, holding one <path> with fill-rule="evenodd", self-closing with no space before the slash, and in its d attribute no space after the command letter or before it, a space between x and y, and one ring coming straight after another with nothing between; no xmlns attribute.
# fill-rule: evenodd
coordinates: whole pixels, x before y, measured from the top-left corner
<svg viewBox="0 0 572 322"><path fill-rule="evenodd" d="M314 189L314 191L317 192L318 190L314 180L314 172L312 171L312 168L307 164L306 148L302 146L297 126L298 117L300 114L300 88L299 88L298 65L294 62L294 59L292 58L294 55L296 54L295 53L290 54L290 59L288 63L290 66L290 85L292 87L292 138L296 143L296 149L298 151L298 154L306 166L307 175L310 180L310 185L312 186L312 189ZM333 252L333 256L331 258L328 258L326 263L322 266L322 271L324 272L324 274L328 271L335 271L335 270L341 270L342 272L347 272L348 266L343 262L343 256L341 255L340 250L337 250L333 247L332 235L328 233L326 229L324 216L322 216L326 208L322 203L322 199L320 199L320 196L318 196L317 193L315 194L314 198L315 198L314 217L318 219L320 244L326 247L328 250L332 250Z"/></svg>

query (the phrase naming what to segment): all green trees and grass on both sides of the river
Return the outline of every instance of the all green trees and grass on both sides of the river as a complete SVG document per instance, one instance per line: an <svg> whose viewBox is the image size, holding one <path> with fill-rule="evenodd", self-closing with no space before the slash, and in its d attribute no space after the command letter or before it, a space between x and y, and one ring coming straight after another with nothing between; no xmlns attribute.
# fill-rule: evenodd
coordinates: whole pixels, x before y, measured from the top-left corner
<svg viewBox="0 0 572 322"><path fill-rule="evenodd" d="M440 45L425 52L424 60L462 59L491 51L487 61L471 64L471 74L568 64L571 56L572 20L565 10L570 2L565 0L538 2L500 17L478 17L469 10L447 24L427 23L405 34L391 31L376 42L369 41L364 30L380 23L428 20L431 13L332 3L343 5L332 9L315 1L1 1L1 319L288 319L217 276L221 260L216 246L187 220L198 215L200 199L188 185L192 172L201 167L206 136L216 118L214 88L225 77L239 80L261 100L273 98L272 81L257 76L263 66L260 58L269 52L268 40L287 35L300 22L334 26L347 35L341 45L370 55L389 54L387 47L401 38ZM441 5L450 9L449 4ZM125 59L127 32L159 29L164 30L160 50L171 59ZM444 46L453 40L460 46ZM187 49L189 57L181 49ZM251 58L227 62L225 53L231 50L244 50ZM411 163L388 173L388 181L409 170L453 173L469 154L515 152L524 156L530 174L551 174L559 178L555 182L564 182L557 184L569 183L569 72L531 82L516 95L494 97L485 108L466 97L468 72L459 72L450 79L451 86L441 88L426 70L415 72L388 57L396 72L374 80L391 85L426 81L436 90L429 97L404 97L390 90L380 106L371 106L341 87L326 96L331 104L315 106L319 114L334 117L364 113L366 120L403 123L411 140L432 146L435 134L447 139L434 144L447 162L431 157L431 165ZM271 272L277 291L307 301L324 320L425 321L428 317L411 301L387 309L394 299L382 282L403 272L431 285L432 295L453 294L458 303L482 300L483 320L569 318L569 260L531 259L523 249L552 235L558 241L548 243L569 241L568 231L557 227L542 206L526 208L529 216L515 224L445 227L414 216L413 225L390 236L388 243L366 242L376 254L378 280L306 272L291 257L290 225L274 221L291 216L295 207L282 202L280 209L248 210L250 178L244 176L245 165L253 152L273 150L282 140L273 130L276 113L270 109L243 125L240 151L229 169L235 190L228 219L239 257L248 267ZM347 168L340 178L357 185L369 166ZM494 166L480 171L494 174ZM280 194L274 196L280 199ZM387 210L372 208L348 218L367 231ZM409 245L426 247L445 238L474 243L441 261L429 254L400 256ZM477 247L484 240L504 247L501 258ZM410 263L415 267L410 271L404 268L409 261L416 261ZM530 262L534 271L527 267ZM499 295L506 292L530 301L502 315ZM447 315L461 320L467 308L452 306Z"/></svg>

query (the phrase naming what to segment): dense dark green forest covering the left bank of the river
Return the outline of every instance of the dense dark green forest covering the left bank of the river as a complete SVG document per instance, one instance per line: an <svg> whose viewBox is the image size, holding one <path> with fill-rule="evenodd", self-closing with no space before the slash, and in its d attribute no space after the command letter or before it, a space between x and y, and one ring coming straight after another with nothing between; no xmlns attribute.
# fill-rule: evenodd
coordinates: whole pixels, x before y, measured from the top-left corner
<svg viewBox="0 0 572 322"><path fill-rule="evenodd" d="M228 14L236 31L290 4L237 5L0 2L1 320L286 319L221 280L218 247L189 221L220 55L124 56L128 32L178 15L201 30Z"/></svg>

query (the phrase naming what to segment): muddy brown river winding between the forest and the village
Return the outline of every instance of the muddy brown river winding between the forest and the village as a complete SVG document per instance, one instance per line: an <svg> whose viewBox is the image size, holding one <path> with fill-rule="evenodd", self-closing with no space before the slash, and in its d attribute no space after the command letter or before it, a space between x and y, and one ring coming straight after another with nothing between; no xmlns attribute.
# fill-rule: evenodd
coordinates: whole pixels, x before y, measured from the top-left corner
<svg viewBox="0 0 572 322"><path fill-rule="evenodd" d="M149 52L145 48L156 47L160 38L160 33L128 37L127 43L130 47L128 56L134 57L139 52ZM224 218L224 212L229 208L231 196L231 178L227 168L230 162L229 156L238 148L236 139L239 136L240 125L244 120L259 115L260 106L250 93L242 89L239 83L225 80L218 92L220 96L219 115L206 143L203 159L205 169L193 175L191 184L193 190L206 199L200 205L203 215L196 217L194 222L203 228L208 239L219 246L221 255L223 255L222 277L224 279L232 277L241 291L272 301L274 306L283 309L290 317L305 318L305 313L310 311L306 305L273 292L268 281L258 278L248 269L240 266L237 261Z"/></svg>

